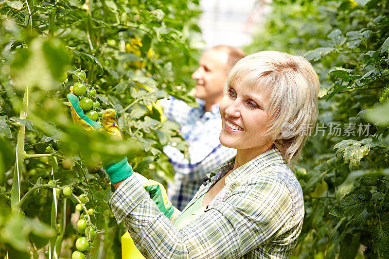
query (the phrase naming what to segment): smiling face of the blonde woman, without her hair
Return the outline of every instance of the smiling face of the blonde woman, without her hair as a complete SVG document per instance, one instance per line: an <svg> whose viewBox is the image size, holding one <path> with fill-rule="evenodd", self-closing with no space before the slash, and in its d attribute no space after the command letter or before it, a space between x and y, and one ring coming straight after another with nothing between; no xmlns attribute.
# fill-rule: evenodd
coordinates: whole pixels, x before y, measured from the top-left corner
<svg viewBox="0 0 389 259"><path fill-rule="evenodd" d="M268 113L265 93L235 85L220 102L223 146L260 155L269 148L265 136Z"/></svg>

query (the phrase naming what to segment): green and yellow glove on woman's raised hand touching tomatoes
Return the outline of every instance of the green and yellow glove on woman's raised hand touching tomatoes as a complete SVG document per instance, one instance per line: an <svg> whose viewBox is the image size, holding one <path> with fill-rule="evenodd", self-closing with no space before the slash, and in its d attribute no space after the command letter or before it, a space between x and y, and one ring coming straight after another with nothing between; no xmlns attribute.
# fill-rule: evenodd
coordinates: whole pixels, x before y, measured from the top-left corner
<svg viewBox="0 0 389 259"><path fill-rule="evenodd" d="M80 107L80 101L78 97L71 93L68 94L68 100L71 108L71 118L76 125L87 131L97 130L108 133L113 138L122 138L118 123L116 112L114 109L106 109L102 116L102 125L96 121L92 121L84 114L84 111ZM130 177L134 172L132 167L127 162L127 157L117 160L111 160L109 162L103 161L103 167L111 180L111 183L118 183L124 179Z"/></svg>

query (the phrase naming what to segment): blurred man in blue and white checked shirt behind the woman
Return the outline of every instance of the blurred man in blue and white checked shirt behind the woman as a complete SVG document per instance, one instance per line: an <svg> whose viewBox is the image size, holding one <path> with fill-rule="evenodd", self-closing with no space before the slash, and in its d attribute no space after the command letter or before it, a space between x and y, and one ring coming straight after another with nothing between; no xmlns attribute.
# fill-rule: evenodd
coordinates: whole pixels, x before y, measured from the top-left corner
<svg viewBox="0 0 389 259"><path fill-rule="evenodd" d="M192 108L183 101L161 100L164 115L181 125L180 134L189 142L190 161L173 146L165 146L175 170L175 183L168 185L172 204L182 210L193 198L207 174L222 162L236 155L235 150L220 144L222 122L219 103L230 69L246 54L242 50L219 45L203 53L198 69L192 74L197 80L195 98L200 105Z"/></svg>

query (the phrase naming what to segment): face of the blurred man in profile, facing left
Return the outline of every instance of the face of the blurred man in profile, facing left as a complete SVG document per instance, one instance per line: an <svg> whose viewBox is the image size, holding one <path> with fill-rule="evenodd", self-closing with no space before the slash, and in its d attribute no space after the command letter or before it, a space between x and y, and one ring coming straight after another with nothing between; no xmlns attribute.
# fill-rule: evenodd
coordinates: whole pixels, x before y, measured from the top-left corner
<svg viewBox="0 0 389 259"><path fill-rule="evenodd" d="M201 57L198 69L192 78L197 80L195 97L209 104L219 103L228 76L228 54L209 50Z"/></svg>

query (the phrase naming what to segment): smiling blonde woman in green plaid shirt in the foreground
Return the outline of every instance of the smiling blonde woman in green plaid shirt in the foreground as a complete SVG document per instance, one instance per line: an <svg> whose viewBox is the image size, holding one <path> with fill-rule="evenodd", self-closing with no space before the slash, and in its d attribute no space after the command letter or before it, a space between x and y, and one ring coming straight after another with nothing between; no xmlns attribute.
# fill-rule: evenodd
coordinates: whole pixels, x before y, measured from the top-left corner
<svg viewBox="0 0 389 259"><path fill-rule="evenodd" d="M299 131L285 136L281 125L299 130L315 122L318 89L313 67L300 56L259 52L240 60L220 104L220 141L235 148L236 156L209 174L182 211L172 207L163 188L142 186L127 159L107 163L106 173L117 188L112 210L142 255L289 258L301 232L304 204L287 164L307 136Z"/></svg>

